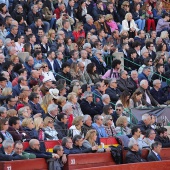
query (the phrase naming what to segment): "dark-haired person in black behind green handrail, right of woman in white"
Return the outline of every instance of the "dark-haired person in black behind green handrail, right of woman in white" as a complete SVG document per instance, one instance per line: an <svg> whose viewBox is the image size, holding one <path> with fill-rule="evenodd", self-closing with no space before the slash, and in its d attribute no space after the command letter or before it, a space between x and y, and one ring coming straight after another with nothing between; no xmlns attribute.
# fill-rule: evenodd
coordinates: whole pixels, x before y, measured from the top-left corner
<svg viewBox="0 0 170 170"><path fill-rule="evenodd" d="M66 79L67 85L70 85L70 82L72 80L71 74L69 73L70 72L70 63L68 63L68 62L63 63L61 69L62 69L61 72L59 72L56 76L56 80Z"/></svg>

